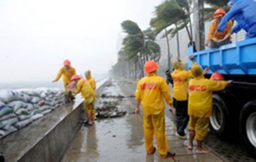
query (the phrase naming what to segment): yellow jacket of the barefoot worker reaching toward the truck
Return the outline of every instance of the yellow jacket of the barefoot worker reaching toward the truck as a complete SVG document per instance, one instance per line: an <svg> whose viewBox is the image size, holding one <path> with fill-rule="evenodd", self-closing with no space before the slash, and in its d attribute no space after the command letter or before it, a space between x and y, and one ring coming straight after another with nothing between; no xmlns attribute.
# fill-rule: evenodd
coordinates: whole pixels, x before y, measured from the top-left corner
<svg viewBox="0 0 256 162"><path fill-rule="evenodd" d="M212 91L223 90L229 81L213 81L204 76L189 81L189 115L210 117L212 115Z"/></svg>

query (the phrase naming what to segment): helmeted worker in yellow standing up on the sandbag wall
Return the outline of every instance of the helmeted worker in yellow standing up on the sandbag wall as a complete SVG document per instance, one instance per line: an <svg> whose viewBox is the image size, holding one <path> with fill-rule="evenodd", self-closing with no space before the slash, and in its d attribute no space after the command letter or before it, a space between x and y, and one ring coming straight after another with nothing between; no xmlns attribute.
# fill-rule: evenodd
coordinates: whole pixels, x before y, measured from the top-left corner
<svg viewBox="0 0 256 162"><path fill-rule="evenodd" d="M63 62L63 64L64 66L59 70L58 74L55 77L55 80L52 82L59 81L59 79L61 78L61 75L63 75L62 78L63 78L64 88L67 93L67 99L69 101L72 101L74 97L72 95L72 92L70 92L67 89L67 85L71 82L70 81L71 77L76 74L76 70L71 66L71 62L68 59L66 59Z"/></svg>

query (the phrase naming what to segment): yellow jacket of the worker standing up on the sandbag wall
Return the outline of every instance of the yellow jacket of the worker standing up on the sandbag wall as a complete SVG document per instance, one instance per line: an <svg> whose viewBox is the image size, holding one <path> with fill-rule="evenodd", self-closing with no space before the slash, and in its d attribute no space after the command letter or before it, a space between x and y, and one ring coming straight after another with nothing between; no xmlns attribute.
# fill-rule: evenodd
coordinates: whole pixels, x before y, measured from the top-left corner
<svg viewBox="0 0 256 162"><path fill-rule="evenodd" d="M69 66L68 70L65 68L65 66L63 66L61 68L61 70L59 70L58 74L56 75L56 78L55 78L55 81L59 81L59 79L61 78L61 75L63 75L63 83L64 83L64 86L66 87L71 81L71 77L73 75L76 74L76 70Z"/></svg>

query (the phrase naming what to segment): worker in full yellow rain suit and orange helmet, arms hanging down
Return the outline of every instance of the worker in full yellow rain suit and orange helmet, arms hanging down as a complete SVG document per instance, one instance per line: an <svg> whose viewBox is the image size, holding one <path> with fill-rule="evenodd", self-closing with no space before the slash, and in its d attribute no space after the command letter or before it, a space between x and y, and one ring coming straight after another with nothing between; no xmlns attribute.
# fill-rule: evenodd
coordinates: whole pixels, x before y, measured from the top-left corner
<svg viewBox="0 0 256 162"><path fill-rule="evenodd" d="M143 130L147 154L154 154L154 135L157 149L161 158L173 158L175 153L168 151L165 125L165 100L171 106L173 113L170 89L166 80L156 74L159 65L154 61L144 64L144 71L148 74L137 82L135 92L137 108L135 113L140 115L140 103L143 105Z"/></svg>

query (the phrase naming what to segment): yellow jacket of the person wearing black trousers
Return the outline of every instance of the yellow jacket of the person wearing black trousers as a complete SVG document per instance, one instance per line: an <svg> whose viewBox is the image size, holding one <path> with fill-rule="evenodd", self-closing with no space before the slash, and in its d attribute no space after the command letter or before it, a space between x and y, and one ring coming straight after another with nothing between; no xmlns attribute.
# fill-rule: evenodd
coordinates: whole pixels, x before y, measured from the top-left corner
<svg viewBox="0 0 256 162"><path fill-rule="evenodd" d="M192 64L192 68L196 65L194 62ZM186 101L188 100L188 87L189 81L188 79L192 77L191 70L183 70L182 68L175 69L172 72L172 81L173 81L173 98L178 101Z"/></svg>

